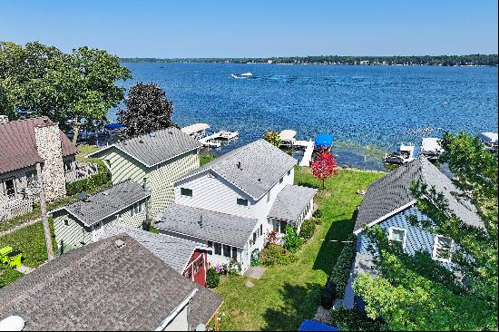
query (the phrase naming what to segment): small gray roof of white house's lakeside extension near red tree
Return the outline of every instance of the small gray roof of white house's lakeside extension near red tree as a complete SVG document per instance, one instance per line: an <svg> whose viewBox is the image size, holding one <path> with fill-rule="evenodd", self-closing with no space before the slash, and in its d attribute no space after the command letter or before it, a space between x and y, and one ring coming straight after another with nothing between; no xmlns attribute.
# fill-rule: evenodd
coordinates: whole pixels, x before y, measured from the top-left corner
<svg viewBox="0 0 499 332"><path fill-rule="evenodd" d="M317 189L287 185L280 190L272 208L269 211L269 218L280 220L298 220L301 212L316 194Z"/></svg>

